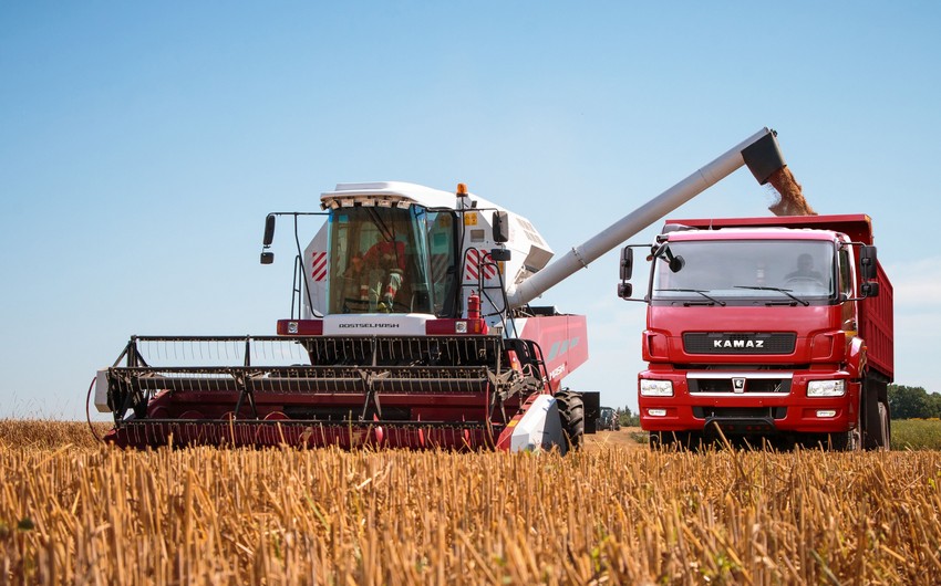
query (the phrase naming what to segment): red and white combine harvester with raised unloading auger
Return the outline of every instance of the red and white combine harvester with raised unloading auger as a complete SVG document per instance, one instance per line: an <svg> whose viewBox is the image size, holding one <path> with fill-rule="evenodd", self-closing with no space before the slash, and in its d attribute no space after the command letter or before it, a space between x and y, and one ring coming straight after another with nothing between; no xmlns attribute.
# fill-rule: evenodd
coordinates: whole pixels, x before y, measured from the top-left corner
<svg viewBox="0 0 941 586"><path fill-rule="evenodd" d="M599 397L561 386L585 316L529 303L747 165L783 168L762 129L585 244L552 251L524 217L458 185L341 184L293 219L290 318L277 336L133 336L93 383L118 446L578 447ZM301 250L298 218L325 216ZM208 360L225 366L207 366ZM170 362L172 366L157 363ZM182 366L180 362L187 363ZM92 389L90 388L90 395Z"/></svg>

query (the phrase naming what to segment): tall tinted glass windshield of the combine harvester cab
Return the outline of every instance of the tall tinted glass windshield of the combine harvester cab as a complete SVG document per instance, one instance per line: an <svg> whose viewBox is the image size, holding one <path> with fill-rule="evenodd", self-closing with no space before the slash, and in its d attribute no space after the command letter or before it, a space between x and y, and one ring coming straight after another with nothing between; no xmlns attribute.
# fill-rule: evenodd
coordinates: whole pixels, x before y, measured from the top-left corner
<svg viewBox="0 0 941 586"><path fill-rule="evenodd" d="M328 313L446 312L454 286L454 216L409 208L330 214Z"/></svg>

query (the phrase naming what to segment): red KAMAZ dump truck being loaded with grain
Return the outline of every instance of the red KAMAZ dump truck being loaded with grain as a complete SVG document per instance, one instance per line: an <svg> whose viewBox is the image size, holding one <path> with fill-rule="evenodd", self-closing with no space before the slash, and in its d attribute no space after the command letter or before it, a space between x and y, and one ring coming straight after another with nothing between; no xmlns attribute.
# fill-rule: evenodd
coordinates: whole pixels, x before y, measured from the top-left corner
<svg viewBox="0 0 941 586"><path fill-rule="evenodd" d="M651 447L721 430L888 449L892 285L872 242L865 214L666 220L648 257L638 377Z"/></svg>

